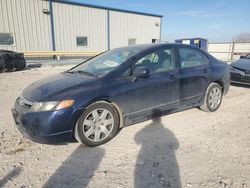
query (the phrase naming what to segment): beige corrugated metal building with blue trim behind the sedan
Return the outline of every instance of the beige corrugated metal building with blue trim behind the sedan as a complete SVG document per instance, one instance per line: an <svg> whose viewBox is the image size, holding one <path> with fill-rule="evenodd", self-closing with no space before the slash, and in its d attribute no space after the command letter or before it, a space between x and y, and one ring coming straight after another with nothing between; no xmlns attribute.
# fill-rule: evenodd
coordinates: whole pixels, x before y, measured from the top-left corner
<svg viewBox="0 0 250 188"><path fill-rule="evenodd" d="M160 41L160 15L59 0L52 7L51 21L49 1L1 0L0 37L13 34L14 42L3 45L0 39L0 48L52 51L54 45L56 51L105 51L129 41Z"/></svg>

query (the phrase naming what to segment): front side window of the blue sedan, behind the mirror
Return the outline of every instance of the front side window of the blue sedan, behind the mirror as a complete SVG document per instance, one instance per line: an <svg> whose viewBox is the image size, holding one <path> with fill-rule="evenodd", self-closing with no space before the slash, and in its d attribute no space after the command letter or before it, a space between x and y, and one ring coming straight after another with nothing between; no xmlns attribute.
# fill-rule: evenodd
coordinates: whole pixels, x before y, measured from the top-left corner
<svg viewBox="0 0 250 188"><path fill-rule="evenodd" d="M174 50L164 49L148 54L137 61L135 67L147 67L150 73L173 70L175 68Z"/></svg>

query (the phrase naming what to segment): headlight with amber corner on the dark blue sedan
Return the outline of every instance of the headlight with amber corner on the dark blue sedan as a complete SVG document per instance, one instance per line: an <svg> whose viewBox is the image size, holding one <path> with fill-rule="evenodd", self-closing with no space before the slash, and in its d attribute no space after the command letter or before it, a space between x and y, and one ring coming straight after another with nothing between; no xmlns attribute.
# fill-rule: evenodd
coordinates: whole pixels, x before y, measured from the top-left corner
<svg viewBox="0 0 250 188"><path fill-rule="evenodd" d="M50 110L60 110L68 108L74 104L74 100L35 102L31 107L32 112L42 112Z"/></svg>

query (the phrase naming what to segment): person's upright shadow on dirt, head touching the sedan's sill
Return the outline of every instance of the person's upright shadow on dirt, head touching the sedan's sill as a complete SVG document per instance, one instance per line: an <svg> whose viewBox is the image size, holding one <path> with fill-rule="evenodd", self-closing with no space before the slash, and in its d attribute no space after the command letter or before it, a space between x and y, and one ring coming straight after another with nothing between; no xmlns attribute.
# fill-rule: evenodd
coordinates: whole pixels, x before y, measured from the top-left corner
<svg viewBox="0 0 250 188"><path fill-rule="evenodd" d="M181 187L175 151L179 142L173 132L164 127L161 118L135 135L141 145L134 171L134 187Z"/></svg>

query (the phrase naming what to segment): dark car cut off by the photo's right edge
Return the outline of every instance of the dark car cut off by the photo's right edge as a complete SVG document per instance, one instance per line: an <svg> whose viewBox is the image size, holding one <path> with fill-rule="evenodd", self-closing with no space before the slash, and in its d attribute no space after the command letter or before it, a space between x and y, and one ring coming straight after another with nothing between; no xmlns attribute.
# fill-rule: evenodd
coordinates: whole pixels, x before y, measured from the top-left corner
<svg viewBox="0 0 250 188"><path fill-rule="evenodd" d="M250 85L250 54L230 64L231 83Z"/></svg>

